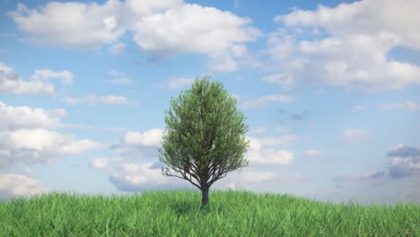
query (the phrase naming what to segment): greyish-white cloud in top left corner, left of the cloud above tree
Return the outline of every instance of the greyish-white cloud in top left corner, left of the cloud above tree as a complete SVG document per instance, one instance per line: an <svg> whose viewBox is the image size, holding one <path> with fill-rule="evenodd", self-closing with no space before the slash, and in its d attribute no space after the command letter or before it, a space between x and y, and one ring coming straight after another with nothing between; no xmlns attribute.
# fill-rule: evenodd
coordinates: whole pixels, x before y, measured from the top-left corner
<svg viewBox="0 0 420 237"><path fill-rule="evenodd" d="M115 0L105 4L49 2L31 10L18 4L9 15L35 43L98 49L101 44L118 40L125 32L118 15L122 7Z"/></svg>

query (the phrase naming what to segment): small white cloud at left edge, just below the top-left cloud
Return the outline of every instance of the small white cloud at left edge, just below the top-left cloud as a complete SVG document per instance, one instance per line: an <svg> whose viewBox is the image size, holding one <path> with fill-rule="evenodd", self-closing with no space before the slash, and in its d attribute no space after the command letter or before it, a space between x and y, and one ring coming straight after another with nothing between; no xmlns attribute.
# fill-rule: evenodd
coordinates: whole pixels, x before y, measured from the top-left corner
<svg viewBox="0 0 420 237"><path fill-rule="evenodd" d="M54 86L36 78L31 81L22 81L13 72L12 67L5 66L0 62L0 92L54 94Z"/></svg>

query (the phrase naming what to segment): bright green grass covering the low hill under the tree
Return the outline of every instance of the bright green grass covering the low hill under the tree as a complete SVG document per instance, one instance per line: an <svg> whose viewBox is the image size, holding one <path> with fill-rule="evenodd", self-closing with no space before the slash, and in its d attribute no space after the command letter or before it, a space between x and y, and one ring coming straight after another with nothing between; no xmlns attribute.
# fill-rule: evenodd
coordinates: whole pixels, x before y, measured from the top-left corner
<svg viewBox="0 0 420 237"><path fill-rule="evenodd" d="M53 192L0 202L1 236L420 236L420 205L361 206L197 190L133 196Z"/></svg>

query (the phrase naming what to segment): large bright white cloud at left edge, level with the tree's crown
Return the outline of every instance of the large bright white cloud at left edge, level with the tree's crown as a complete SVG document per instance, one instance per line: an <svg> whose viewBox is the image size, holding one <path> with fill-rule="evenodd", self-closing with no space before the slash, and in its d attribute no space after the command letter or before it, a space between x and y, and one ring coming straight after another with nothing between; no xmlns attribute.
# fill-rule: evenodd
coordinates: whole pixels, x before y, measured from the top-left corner
<svg viewBox="0 0 420 237"><path fill-rule="evenodd" d="M66 110L13 107L0 101L0 167L13 162L48 163L59 154L81 154L101 148L92 140L77 140L46 128L74 127L61 124Z"/></svg>

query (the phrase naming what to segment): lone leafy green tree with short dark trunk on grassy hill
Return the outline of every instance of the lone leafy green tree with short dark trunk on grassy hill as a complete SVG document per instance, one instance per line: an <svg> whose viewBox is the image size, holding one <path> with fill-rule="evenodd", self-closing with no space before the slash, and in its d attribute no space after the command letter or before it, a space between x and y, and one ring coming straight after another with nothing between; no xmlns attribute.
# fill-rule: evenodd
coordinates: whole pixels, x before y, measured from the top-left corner
<svg viewBox="0 0 420 237"><path fill-rule="evenodd" d="M229 171L249 164L243 154L249 141L243 136L248 126L236 110L236 99L223 89L223 83L210 83L208 77L196 79L178 100L171 98L165 110L167 127L162 136L159 160L168 167L162 175L188 180L201 190L201 207L208 203L208 191ZM240 170L241 171L241 170Z"/></svg>

